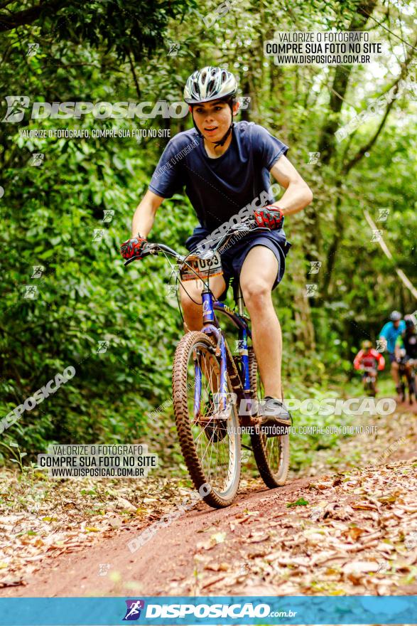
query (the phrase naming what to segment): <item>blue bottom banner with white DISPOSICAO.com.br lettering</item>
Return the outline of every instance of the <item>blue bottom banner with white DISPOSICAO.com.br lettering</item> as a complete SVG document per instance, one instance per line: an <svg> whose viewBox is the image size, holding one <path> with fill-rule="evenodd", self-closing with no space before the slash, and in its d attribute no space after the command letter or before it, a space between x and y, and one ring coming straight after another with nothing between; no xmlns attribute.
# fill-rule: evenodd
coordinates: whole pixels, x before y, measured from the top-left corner
<svg viewBox="0 0 417 626"><path fill-rule="evenodd" d="M0 598L0 626L417 624L417 595Z"/></svg>

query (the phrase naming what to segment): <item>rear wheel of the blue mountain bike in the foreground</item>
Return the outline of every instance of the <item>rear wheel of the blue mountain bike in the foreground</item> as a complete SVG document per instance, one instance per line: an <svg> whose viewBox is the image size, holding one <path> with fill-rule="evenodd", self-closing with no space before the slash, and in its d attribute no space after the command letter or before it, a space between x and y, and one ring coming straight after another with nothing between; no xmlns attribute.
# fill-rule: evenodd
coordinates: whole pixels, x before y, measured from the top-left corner
<svg viewBox="0 0 417 626"><path fill-rule="evenodd" d="M249 348L249 378L252 398L259 402L264 390L253 348ZM251 435L251 442L256 465L266 487L281 487L286 482L290 465L290 435L287 433L278 437L266 437L261 433L254 433Z"/></svg>

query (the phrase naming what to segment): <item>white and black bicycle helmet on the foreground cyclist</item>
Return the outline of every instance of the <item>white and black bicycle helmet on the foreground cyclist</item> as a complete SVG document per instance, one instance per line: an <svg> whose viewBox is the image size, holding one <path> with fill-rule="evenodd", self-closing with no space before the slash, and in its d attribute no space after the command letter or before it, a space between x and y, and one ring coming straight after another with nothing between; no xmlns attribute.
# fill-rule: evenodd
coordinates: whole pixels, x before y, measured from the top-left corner
<svg viewBox="0 0 417 626"><path fill-rule="evenodd" d="M237 82L232 73L207 65L188 77L184 87L184 100L188 105L197 105L233 96L236 92Z"/></svg>

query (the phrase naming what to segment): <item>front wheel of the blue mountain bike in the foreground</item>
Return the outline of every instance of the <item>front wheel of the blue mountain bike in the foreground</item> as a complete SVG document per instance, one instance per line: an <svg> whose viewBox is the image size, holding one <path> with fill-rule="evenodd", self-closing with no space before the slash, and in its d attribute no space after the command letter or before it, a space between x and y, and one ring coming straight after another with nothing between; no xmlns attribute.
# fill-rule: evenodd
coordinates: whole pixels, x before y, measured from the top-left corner
<svg viewBox="0 0 417 626"><path fill-rule="evenodd" d="M198 331L185 334L173 364L175 423L194 486L210 485L204 499L215 508L232 504L241 463L237 405L229 396L226 414L219 413L213 400L219 387L220 357L212 339Z"/></svg>

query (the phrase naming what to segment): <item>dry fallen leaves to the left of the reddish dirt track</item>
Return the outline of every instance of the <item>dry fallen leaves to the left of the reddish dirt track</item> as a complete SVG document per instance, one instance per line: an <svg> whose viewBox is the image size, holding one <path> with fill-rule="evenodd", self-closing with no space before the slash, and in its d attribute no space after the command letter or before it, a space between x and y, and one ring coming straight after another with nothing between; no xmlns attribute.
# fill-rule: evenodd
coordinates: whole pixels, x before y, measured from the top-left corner
<svg viewBox="0 0 417 626"><path fill-rule="evenodd" d="M0 588L25 585L45 558L84 550L166 514L190 489L180 478L48 479L43 472L0 477ZM161 498L163 494L163 499Z"/></svg>

